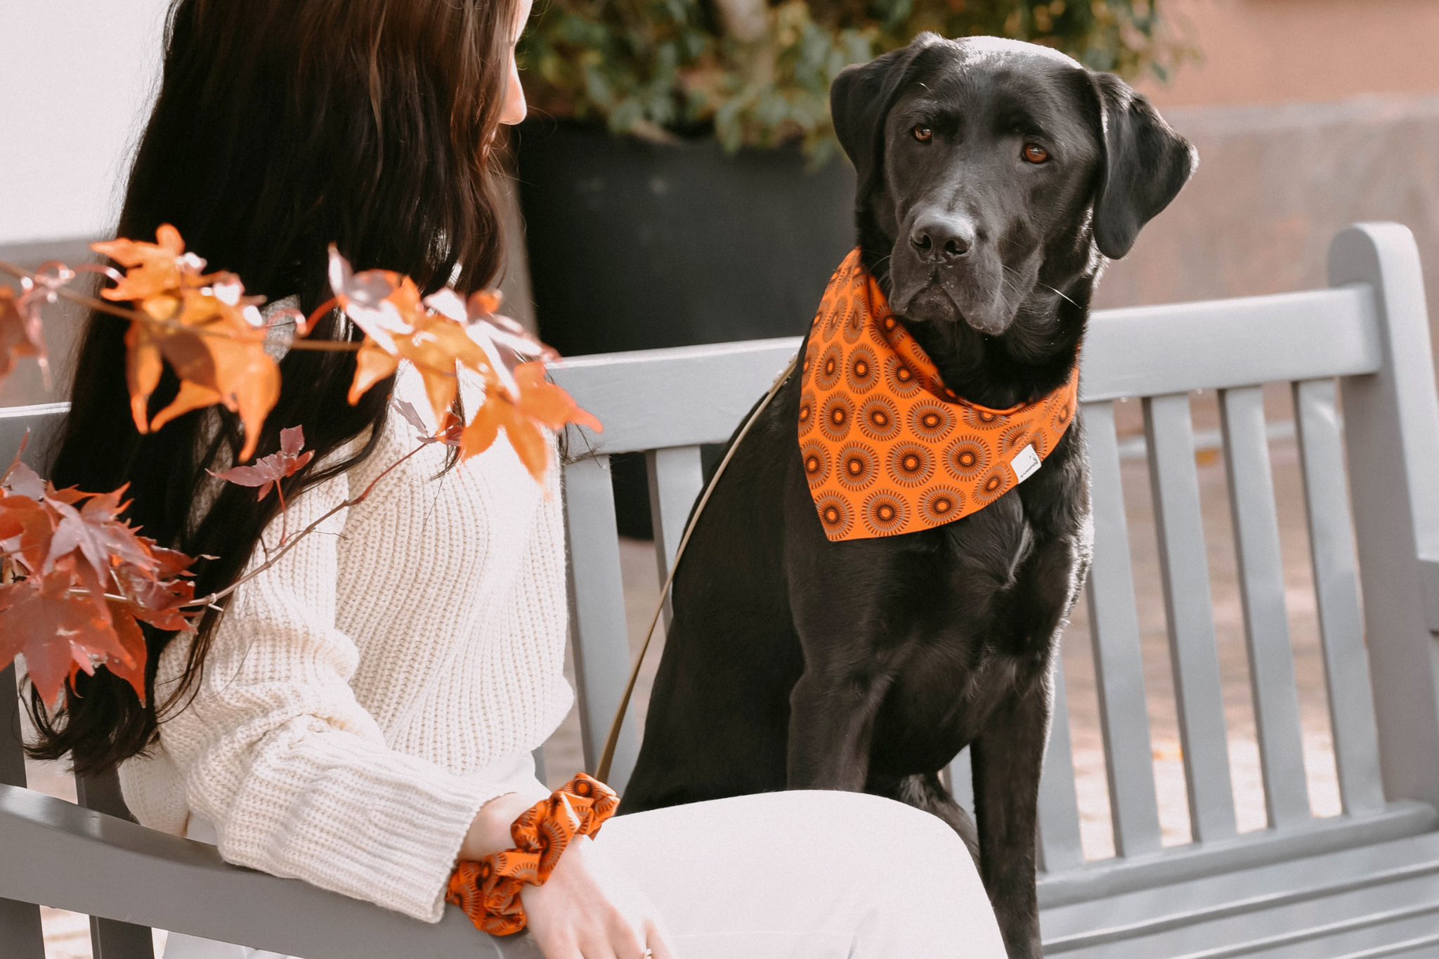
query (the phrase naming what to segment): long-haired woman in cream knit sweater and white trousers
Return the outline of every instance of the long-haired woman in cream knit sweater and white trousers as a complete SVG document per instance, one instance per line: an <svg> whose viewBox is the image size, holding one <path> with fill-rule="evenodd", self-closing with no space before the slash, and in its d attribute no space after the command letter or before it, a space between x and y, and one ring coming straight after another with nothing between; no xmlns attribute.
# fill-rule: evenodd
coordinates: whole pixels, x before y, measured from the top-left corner
<svg viewBox="0 0 1439 959"><path fill-rule="evenodd" d="M181 0L119 234L171 223L209 269L307 313L331 295L330 243L425 292L489 285L504 262L495 144L525 115L514 47L528 13L530 0ZM302 426L315 459L283 483L281 519L278 497L207 472L243 441L220 407L137 433L124 336L92 318L52 476L128 483L145 535L206 556L201 594L414 447L391 394L429 418L409 364L351 405L353 352L288 352L259 450ZM314 336L358 331L331 312ZM157 404L174 388L167 372ZM479 388L462 377L472 410ZM426 922L446 899L496 932L527 922L545 959L1002 956L964 845L898 802L751 795L619 817L596 840L610 802L591 782L570 784L568 807L537 805L551 791L531 751L571 706L560 510L558 470L535 483L504 434L465 463L427 446L196 633L148 630L145 703L105 670L78 676L63 712L39 716L37 752L81 772L119 763L142 824L232 863ZM547 881L507 912L486 870L532 808L537 848L563 851L541 854ZM173 935L165 955L256 953Z"/></svg>

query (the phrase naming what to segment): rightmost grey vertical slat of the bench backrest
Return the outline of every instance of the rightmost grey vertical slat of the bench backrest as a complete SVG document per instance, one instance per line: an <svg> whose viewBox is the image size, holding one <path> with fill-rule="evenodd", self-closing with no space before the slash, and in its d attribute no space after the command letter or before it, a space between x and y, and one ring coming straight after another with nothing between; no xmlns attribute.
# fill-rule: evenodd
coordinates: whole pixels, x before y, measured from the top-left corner
<svg viewBox="0 0 1439 959"><path fill-rule="evenodd" d="M1294 418L1298 423L1340 801L1345 812L1364 815L1384 807L1384 789L1379 772L1379 732L1370 693L1368 654L1364 651L1364 621L1358 608L1358 572L1354 568L1354 533L1350 529L1344 440L1335 394L1333 380L1295 382Z"/></svg>

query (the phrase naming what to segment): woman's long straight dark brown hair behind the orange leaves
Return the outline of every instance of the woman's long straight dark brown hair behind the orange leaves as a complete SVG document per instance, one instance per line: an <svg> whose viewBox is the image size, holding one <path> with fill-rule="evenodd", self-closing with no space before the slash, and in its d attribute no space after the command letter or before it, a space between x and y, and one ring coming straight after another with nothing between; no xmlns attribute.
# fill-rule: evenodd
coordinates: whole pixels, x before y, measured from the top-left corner
<svg viewBox="0 0 1439 959"><path fill-rule="evenodd" d="M307 313L330 298L325 249L355 269L384 267L426 290L452 275L469 292L501 265L492 165L501 129L517 0L178 0L165 32L164 75L130 174L118 236L153 240L173 223L209 269L239 273L252 293L298 296ZM278 499L226 485L193 515L204 469L233 457L242 430L197 411L137 433L125 385L125 324L89 318L71 413L58 439L56 486L105 492L130 483L128 518L161 545L191 556L197 595L245 569ZM357 339L330 313L314 336ZM390 382L357 405L345 393L354 354L291 351L279 403L259 454L279 431L304 426L309 467L285 497L368 457L386 421ZM151 416L178 384L165 374ZM206 426L212 424L212 426ZM342 462L325 454L371 430ZM147 697L106 670L76 677L47 715L32 690L39 739L30 753L69 753L95 774L144 752L157 716L181 703L203 667L217 612L206 611L184 677L155 703L155 663L176 637L145 627Z"/></svg>

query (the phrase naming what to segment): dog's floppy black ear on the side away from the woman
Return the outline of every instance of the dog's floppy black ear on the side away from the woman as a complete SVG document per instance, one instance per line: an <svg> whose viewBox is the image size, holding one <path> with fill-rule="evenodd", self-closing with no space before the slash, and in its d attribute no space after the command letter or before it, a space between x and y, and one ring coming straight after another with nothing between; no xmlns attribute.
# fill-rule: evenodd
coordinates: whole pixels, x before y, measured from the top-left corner
<svg viewBox="0 0 1439 959"><path fill-rule="evenodd" d="M1170 129L1143 93L1112 73L1092 73L1102 115L1104 162L1094 198L1094 239L1117 260L1140 227L1170 204L1199 165L1199 152Z"/></svg>

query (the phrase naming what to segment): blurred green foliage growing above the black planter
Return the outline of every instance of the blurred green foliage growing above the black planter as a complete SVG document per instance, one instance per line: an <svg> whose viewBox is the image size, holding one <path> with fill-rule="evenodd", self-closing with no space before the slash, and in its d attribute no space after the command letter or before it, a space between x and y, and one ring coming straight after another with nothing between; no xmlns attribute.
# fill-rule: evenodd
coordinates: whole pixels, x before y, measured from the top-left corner
<svg viewBox="0 0 1439 959"><path fill-rule="evenodd" d="M1167 79L1187 55L1158 0L780 0L750 43L721 29L727 1L540 0L519 47L532 108L731 151L800 141L823 162L837 150L830 81L924 30L1043 43L1131 79Z"/></svg>

